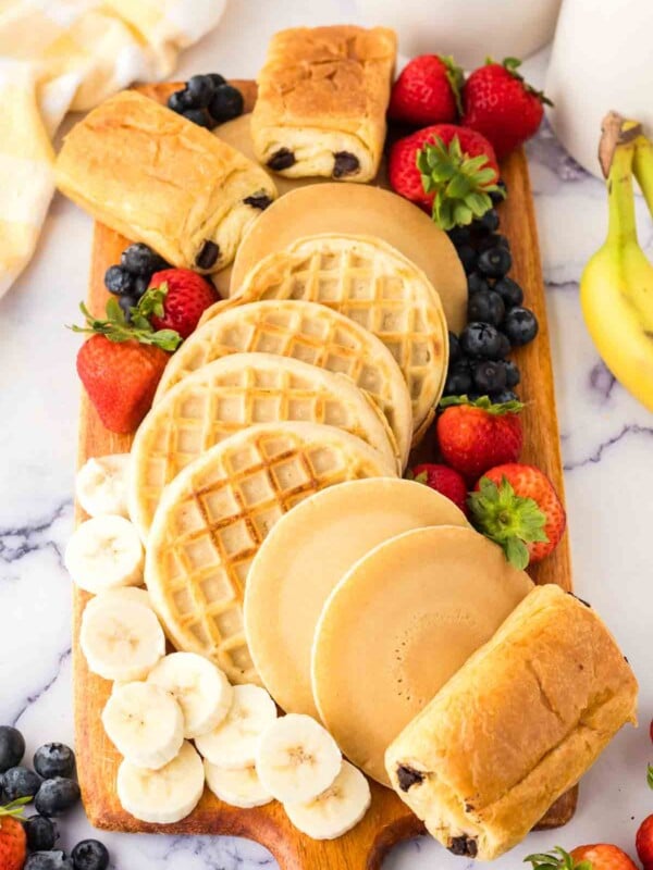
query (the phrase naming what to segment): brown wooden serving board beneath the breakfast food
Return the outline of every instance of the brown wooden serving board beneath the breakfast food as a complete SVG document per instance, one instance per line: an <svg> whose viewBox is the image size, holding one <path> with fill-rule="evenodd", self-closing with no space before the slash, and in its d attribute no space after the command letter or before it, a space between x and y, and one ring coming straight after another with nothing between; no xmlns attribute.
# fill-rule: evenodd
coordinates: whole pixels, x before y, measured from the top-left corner
<svg viewBox="0 0 653 870"><path fill-rule="evenodd" d="M249 111L256 97L252 82L235 82ZM152 99L164 100L178 85L155 85L141 88ZM502 232L510 239L513 277L525 288L526 303L535 312L540 334L535 341L515 353L522 373L519 387L528 402L523 414L527 462L537 463L564 493L558 424L555 410L551 347L538 234L530 190L528 166L522 151L512 154L502 166L508 186L508 198L500 207ZM96 224L88 308L101 315L108 298L103 285L106 269L120 260L128 240L101 224ZM108 432L84 394L82 397L79 455L82 465L88 458L126 451L131 436ZM431 439L432 443L432 439ZM428 455L429 436L420 448ZM86 519L77 506L77 521ZM555 552L530 571L537 583L557 583L571 588L571 564L568 538L565 536ZM424 832L421 822L407 809L394 792L371 783L372 806L353 831L340 840L315 842L289 823L280 804L256 809L237 809L219 801L207 790L197 809L172 825L139 822L121 807L115 794L115 775L120 756L107 738L100 721L111 684L91 674L79 650L78 633L82 611L88 595L74 591L73 662L76 721L76 750L79 784L88 818L96 828L127 832L162 832L173 834L231 834L257 840L274 855L283 870L377 870L385 853L402 840ZM577 788L564 795L546 813L540 826L556 828L574 815Z"/></svg>

